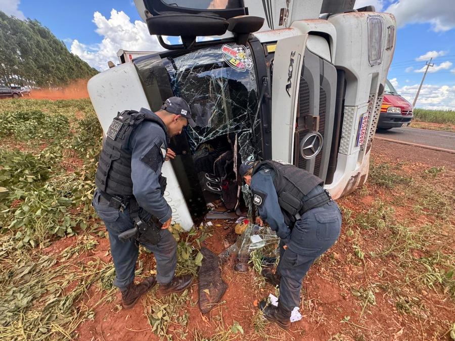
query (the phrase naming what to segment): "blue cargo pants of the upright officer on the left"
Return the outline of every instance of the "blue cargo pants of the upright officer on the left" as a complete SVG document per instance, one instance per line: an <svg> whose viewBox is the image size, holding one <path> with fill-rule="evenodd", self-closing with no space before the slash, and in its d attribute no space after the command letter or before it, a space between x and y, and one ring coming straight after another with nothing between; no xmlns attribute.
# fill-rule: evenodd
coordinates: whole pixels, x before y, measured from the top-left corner
<svg viewBox="0 0 455 341"><path fill-rule="evenodd" d="M134 227L128 210L118 211L108 206L108 202L97 190L92 205L104 221L109 233L111 254L115 267L114 285L120 290L126 288L134 280L134 270L139 256L139 247L135 241L121 241L118 235ZM153 252L156 260L156 280L160 284L169 283L174 277L177 264L177 243L167 229L160 231L161 240L157 245L143 244Z"/></svg>

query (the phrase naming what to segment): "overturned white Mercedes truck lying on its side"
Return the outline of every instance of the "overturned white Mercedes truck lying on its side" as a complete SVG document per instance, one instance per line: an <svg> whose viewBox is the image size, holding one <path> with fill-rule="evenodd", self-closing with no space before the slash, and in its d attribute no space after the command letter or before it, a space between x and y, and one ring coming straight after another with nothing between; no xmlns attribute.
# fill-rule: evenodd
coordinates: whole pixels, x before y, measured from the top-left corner
<svg viewBox="0 0 455 341"><path fill-rule="evenodd" d="M162 169L174 222L190 229L217 199L248 206L237 171L249 158L306 169L335 199L365 183L395 47L391 14L354 10L353 0L135 4L167 51L98 74L88 92L105 132L123 110L158 110L173 95L190 104L197 126L172 139L177 157Z"/></svg>

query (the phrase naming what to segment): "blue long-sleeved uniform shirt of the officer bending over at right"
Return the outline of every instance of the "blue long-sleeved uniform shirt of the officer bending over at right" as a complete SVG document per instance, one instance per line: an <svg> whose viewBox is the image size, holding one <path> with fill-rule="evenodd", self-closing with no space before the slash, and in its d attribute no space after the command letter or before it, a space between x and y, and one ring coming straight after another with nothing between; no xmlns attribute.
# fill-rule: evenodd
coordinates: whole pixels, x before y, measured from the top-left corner
<svg viewBox="0 0 455 341"><path fill-rule="evenodd" d="M285 223L280 204L278 203L274 176L274 170L262 169L252 176L250 187L253 191L253 201L257 206L260 217L286 243L291 237L291 230Z"/></svg>

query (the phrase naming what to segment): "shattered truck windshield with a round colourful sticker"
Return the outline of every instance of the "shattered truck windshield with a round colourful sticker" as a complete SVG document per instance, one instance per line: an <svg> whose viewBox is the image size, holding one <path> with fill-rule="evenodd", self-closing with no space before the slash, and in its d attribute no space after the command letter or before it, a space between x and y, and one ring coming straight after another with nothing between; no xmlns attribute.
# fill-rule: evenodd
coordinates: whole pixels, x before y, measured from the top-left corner
<svg viewBox="0 0 455 341"><path fill-rule="evenodd" d="M230 48L236 46L210 46L162 59L174 95L189 103L196 122L194 129L187 129L193 151L201 143L228 133L248 140L242 134L250 134L252 125L258 124L254 118L257 85L250 51L248 48L241 50L245 55L243 63L232 66L225 59ZM252 147L251 142L242 147L248 146Z"/></svg>

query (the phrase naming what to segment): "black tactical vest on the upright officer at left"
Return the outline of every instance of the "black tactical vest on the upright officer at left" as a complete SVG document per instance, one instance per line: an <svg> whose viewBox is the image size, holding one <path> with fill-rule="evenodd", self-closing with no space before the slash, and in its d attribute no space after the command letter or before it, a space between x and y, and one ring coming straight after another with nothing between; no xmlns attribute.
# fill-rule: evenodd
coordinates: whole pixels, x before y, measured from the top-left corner
<svg viewBox="0 0 455 341"><path fill-rule="evenodd" d="M131 197L131 150L129 137L144 120L157 123L167 136L167 127L156 115L126 110L117 114L106 133L95 183L111 196Z"/></svg>

